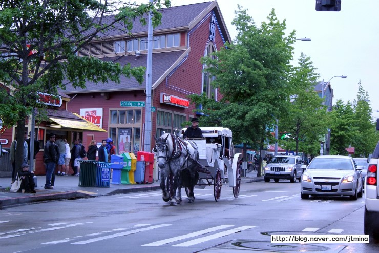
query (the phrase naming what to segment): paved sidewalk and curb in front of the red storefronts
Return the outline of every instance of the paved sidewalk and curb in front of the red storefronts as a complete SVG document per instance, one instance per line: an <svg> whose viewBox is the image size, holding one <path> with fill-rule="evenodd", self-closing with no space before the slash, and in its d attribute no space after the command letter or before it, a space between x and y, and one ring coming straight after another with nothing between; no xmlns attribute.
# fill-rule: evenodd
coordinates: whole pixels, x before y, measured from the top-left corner
<svg viewBox="0 0 379 253"><path fill-rule="evenodd" d="M44 188L45 180L45 176L37 176L38 186L35 187L37 193L31 194L9 192L11 178L0 178L0 209L40 201L90 198L160 189L160 181L154 181L151 184L110 184L110 187L79 187L79 177L55 176L54 189L47 190ZM241 184L262 181L263 177L257 177L257 171L247 172L246 177L241 177Z"/></svg>

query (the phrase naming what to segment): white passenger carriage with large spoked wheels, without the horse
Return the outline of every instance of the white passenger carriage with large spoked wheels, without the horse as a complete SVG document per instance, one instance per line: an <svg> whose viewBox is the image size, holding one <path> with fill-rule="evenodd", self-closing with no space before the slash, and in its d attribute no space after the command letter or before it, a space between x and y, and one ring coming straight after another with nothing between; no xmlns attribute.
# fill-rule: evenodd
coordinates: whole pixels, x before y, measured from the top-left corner
<svg viewBox="0 0 379 253"><path fill-rule="evenodd" d="M181 137L186 128L180 132ZM214 197L220 200L221 187L232 187L233 195L238 198L241 186L241 154L234 154L232 133L225 127L201 127L203 138L191 139L199 150L202 167L198 169L200 179L197 185L213 185ZM187 189L186 193L188 195Z"/></svg>

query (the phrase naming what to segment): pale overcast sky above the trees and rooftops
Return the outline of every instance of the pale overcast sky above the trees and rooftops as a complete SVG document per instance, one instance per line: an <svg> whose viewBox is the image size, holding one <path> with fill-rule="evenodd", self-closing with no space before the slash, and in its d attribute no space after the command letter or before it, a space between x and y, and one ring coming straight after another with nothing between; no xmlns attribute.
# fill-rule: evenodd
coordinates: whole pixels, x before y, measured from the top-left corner
<svg viewBox="0 0 379 253"><path fill-rule="evenodd" d="M209 0L208 0L209 1ZM204 0L172 0L172 6L208 2ZM372 116L379 118L379 10L378 0L342 0L341 11L319 12L315 0L218 0L222 16L232 40L237 35L231 21L237 5L248 9L257 26L267 21L271 9L280 21L286 20L288 34L296 30L297 38L310 38L294 44L292 65L303 52L310 57L320 80L330 80L334 92L333 104L356 100L358 83L368 92Z"/></svg>

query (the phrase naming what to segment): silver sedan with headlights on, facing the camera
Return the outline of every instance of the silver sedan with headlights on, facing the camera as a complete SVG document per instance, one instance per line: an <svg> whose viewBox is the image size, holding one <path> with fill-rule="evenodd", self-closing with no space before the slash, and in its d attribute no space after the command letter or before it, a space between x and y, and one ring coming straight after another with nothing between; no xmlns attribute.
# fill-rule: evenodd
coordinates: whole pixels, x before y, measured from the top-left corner
<svg viewBox="0 0 379 253"><path fill-rule="evenodd" d="M362 197L362 166L351 157L320 155L307 166L301 177L301 198L309 195Z"/></svg>

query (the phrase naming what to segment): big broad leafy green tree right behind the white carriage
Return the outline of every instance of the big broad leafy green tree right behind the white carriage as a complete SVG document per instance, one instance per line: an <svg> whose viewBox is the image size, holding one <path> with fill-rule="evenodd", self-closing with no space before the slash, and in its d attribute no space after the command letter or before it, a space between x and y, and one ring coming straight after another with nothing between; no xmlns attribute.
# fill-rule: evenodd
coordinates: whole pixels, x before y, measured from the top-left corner
<svg viewBox="0 0 379 253"><path fill-rule="evenodd" d="M274 9L257 27L247 10L235 11L233 23L238 35L233 44L202 59L205 71L216 77L212 86L223 98L192 95L202 104L202 125L225 126L233 131L235 143L259 147L271 136L271 130L288 99L288 77L294 31L287 37L285 21L280 22ZM216 56L216 57L215 57ZM244 160L246 149L244 149Z"/></svg>

